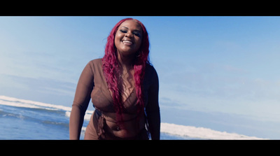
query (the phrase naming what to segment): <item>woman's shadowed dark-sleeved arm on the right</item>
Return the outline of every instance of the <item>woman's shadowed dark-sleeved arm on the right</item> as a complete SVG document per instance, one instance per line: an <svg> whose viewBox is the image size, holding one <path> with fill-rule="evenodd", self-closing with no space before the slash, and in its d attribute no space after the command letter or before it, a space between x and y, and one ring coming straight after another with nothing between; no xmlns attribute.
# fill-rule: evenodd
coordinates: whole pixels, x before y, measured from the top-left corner
<svg viewBox="0 0 280 156"><path fill-rule="evenodd" d="M152 140L160 139L160 106L158 104L158 74L153 69L152 85L148 90L148 104L146 106L146 114L148 119L148 127Z"/></svg>

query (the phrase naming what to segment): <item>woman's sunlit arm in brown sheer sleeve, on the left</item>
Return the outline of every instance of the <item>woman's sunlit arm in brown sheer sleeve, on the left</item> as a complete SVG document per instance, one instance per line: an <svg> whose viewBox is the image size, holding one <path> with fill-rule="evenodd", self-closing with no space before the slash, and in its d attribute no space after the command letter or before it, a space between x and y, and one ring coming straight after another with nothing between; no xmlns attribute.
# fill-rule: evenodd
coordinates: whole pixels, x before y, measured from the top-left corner
<svg viewBox="0 0 280 156"><path fill-rule="evenodd" d="M93 80L92 65L89 62L80 74L73 100L69 120L69 137L71 140L80 139L80 131L83 126L85 111L87 110L88 103L90 102L90 94L94 86Z"/></svg>

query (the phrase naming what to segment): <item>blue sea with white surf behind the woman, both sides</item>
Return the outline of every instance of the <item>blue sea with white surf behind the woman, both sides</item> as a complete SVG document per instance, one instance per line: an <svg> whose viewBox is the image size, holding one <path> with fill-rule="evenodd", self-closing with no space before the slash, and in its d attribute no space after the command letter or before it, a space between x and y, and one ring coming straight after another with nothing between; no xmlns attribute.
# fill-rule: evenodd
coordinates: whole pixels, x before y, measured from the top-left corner
<svg viewBox="0 0 280 156"><path fill-rule="evenodd" d="M85 113L80 139L93 111ZM1 140L67 140L71 107L0 96ZM218 132L203 127L161 123L160 139L259 139L253 136Z"/></svg>

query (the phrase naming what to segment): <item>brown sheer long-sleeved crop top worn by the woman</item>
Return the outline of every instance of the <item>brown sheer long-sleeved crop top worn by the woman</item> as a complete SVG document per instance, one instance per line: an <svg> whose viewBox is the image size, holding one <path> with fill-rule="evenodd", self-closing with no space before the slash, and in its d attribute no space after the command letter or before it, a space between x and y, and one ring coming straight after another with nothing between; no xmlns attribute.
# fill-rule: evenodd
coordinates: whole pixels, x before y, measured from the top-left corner
<svg viewBox="0 0 280 156"><path fill-rule="evenodd" d="M158 74L150 64L146 65L143 87L145 112L151 138L160 139ZM69 121L70 139L80 138L83 118L90 99L92 99L95 109L106 113L115 113L113 98L111 97L102 69L102 59L93 59L88 62L80 75ZM123 112L125 114L133 115L137 113L137 94L135 90L125 99L123 105L125 108Z"/></svg>

